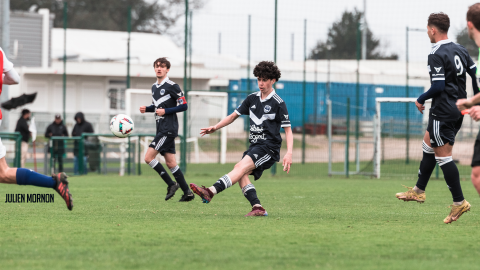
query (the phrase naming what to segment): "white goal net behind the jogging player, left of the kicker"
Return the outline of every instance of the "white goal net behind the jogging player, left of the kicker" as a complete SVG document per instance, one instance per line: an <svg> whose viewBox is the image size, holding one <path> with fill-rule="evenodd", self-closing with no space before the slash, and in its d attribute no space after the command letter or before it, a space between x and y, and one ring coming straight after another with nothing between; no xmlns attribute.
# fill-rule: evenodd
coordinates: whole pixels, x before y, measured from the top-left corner
<svg viewBox="0 0 480 270"><path fill-rule="evenodd" d="M200 128L215 125L227 116L228 94L209 91L189 91L186 96L188 102L187 113L187 163L225 163L227 151L227 128L220 132L200 137ZM142 155L148 149L153 140L147 134L156 133L155 120L151 114L140 113L140 106L152 102L152 92L146 89L127 89L125 92L125 113L132 117L135 123L135 131L132 137L141 134L139 151ZM184 113L178 113L178 134L183 136ZM181 140L177 138L177 160L180 160ZM157 156L160 162L163 157Z"/></svg>

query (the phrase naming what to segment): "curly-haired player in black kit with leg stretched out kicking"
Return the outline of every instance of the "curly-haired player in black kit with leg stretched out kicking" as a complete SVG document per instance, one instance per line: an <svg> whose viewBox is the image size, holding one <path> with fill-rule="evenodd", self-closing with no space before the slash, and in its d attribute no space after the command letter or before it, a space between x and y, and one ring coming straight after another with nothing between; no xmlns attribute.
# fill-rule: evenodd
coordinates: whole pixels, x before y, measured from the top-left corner
<svg viewBox="0 0 480 270"><path fill-rule="evenodd" d="M202 136L211 134L235 121L240 115L250 116L250 147L243 153L243 158L233 170L222 176L213 186L206 188L190 184L193 192L204 203L209 203L213 196L238 182L244 196L252 205L252 211L246 216L267 216L267 211L260 204L257 191L248 175L258 180L264 170L269 169L280 159L282 137L280 128L285 130L287 154L283 158L283 170L290 172L292 164L293 135L288 117L287 105L277 95L272 85L280 79L280 70L273 62L260 62L253 74L257 77L259 92L249 95L234 113L225 117L215 126L202 128Z"/></svg>

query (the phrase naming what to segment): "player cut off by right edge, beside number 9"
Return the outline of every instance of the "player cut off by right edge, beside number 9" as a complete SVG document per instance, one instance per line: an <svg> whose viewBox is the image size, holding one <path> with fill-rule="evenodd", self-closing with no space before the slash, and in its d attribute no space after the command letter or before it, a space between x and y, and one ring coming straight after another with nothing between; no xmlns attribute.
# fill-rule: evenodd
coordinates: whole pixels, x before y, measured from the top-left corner
<svg viewBox="0 0 480 270"><path fill-rule="evenodd" d="M467 11L467 29L468 36L475 41L480 47L480 3L476 3L468 8ZM476 79L472 80L476 81ZM480 120L480 95L478 94L478 87L473 87L475 96L469 99L459 99L457 107L460 111L468 112L473 120ZM468 110L467 110L468 109ZM467 110L467 111L466 111ZM475 146L473 148L472 158L472 183L478 194L480 194L480 131L478 132Z"/></svg>

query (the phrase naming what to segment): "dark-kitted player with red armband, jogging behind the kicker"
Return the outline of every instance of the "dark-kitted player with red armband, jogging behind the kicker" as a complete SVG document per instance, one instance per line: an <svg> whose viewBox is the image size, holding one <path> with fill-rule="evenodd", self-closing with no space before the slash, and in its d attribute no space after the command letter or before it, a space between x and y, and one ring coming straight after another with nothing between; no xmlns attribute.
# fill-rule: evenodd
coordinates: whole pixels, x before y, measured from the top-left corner
<svg viewBox="0 0 480 270"><path fill-rule="evenodd" d="M178 84L172 82L168 77L170 71L170 61L166 58L158 58L153 62L153 68L157 75L157 82L152 86L152 105L141 106L140 112L154 112L157 122L157 135L150 144L145 154L145 162L154 169L163 181L168 185L165 201L170 200L177 189L183 190L183 196L180 202L188 202L195 199L192 191L188 188L182 171L175 160L175 138L178 136L177 113L188 109L187 101ZM177 106L177 103L179 104ZM165 158L167 167L172 172L174 182L167 171L163 168L155 157L160 153Z"/></svg>

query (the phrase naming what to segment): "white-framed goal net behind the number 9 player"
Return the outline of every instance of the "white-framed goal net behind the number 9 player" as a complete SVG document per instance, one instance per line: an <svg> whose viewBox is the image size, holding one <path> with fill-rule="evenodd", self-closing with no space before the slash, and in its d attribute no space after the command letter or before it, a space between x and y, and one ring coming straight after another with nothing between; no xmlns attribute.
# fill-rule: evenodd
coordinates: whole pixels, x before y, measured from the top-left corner
<svg viewBox="0 0 480 270"><path fill-rule="evenodd" d="M421 114L416 98L376 98L375 108L375 175L415 178L423 157L422 141L428 126L431 101ZM478 123L469 116L463 119L453 147L453 159L460 175L468 177ZM441 170L432 177L443 178Z"/></svg>

